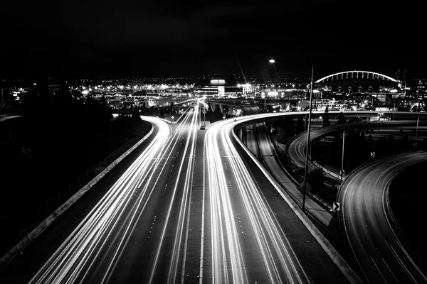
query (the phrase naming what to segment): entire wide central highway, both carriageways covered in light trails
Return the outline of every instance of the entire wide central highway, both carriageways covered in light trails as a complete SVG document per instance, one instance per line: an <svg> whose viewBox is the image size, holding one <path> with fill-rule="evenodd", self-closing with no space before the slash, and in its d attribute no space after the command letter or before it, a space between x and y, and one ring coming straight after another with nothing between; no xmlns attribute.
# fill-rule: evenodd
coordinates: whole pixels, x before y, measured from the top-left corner
<svg viewBox="0 0 427 284"><path fill-rule="evenodd" d="M67 231L35 274L6 283L346 283L263 172L232 120L199 131L199 107L159 133ZM206 136L205 136L206 134ZM265 153L265 149L263 152ZM24 254L31 263L31 254Z"/></svg>

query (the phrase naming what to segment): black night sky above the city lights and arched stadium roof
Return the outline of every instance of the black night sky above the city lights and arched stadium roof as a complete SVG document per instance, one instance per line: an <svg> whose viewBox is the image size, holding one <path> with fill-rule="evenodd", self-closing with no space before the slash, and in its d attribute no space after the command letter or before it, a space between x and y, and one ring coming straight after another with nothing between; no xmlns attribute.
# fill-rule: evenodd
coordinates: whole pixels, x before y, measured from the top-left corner
<svg viewBox="0 0 427 284"><path fill-rule="evenodd" d="M423 11L419 1L8 1L0 78L308 77L312 63L315 77L427 77Z"/></svg>

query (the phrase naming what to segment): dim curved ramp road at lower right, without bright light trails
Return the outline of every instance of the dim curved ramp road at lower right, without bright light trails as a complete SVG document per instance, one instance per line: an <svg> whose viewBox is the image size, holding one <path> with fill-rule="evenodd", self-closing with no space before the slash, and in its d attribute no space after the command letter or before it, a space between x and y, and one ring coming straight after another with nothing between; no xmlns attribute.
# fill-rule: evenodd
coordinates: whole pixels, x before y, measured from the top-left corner
<svg viewBox="0 0 427 284"><path fill-rule="evenodd" d="M352 172L340 189L345 232L369 283L427 282L399 240L388 194L401 170L426 160L427 152L421 151L375 160ZM420 219L420 229L423 225Z"/></svg>

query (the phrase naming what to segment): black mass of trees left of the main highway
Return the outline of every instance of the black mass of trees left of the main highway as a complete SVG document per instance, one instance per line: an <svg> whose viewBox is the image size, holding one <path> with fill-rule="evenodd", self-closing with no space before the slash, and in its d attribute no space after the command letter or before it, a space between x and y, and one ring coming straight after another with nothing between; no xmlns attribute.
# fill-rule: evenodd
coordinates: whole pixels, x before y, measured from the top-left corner
<svg viewBox="0 0 427 284"><path fill-rule="evenodd" d="M21 110L0 123L1 225L11 232L38 222L49 195L150 127L138 114L112 119L105 102L65 86L34 89Z"/></svg>

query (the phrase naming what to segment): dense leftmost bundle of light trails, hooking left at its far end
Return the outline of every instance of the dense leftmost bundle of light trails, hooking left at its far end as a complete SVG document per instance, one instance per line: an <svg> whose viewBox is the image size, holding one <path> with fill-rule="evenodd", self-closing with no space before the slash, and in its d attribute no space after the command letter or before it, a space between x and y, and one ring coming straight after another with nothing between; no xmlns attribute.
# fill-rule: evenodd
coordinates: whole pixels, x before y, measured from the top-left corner
<svg viewBox="0 0 427 284"><path fill-rule="evenodd" d="M125 241L122 235L126 235L132 229L132 220L136 217L135 210L130 210L131 213L125 215L125 208L136 191L140 191L140 195L134 207L142 207L147 201L150 190L147 184L142 186L142 180L152 175L152 169L157 166L157 163L152 163L152 159L159 155L171 135L169 125L164 121L149 116L144 116L143 119L159 128L158 135L65 239L53 256L33 276L30 283L81 282L90 277L87 266L97 258L98 251L107 245L107 240L114 239L121 243ZM125 221L118 222L120 218ZM114 234L112 228L115 226L120 226L120 231L125 233ZM121 247L117 246L118 249ZM109 270L120 254L118 249L109 253L109 257L112 258ZM107 275L108 273L105 273L104 279Z"/></svg>

